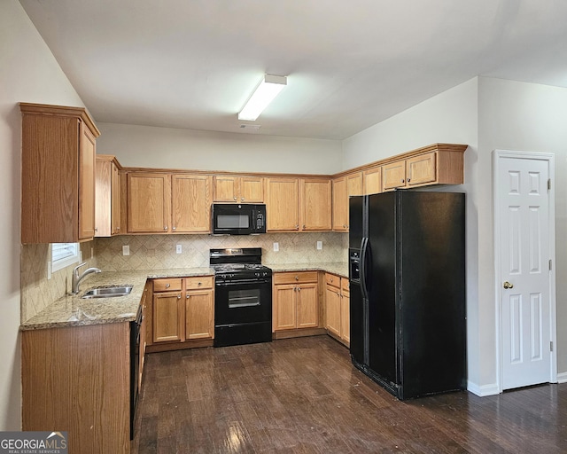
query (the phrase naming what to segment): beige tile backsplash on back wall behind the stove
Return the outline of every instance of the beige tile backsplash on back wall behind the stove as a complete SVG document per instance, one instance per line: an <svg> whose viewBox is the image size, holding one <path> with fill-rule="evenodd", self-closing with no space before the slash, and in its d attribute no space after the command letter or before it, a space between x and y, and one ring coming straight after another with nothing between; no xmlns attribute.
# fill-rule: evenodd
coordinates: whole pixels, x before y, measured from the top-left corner
<svg viewBox="0 0 567 454"><path fill-rule="evenodd" d="M322 249L317 250L317 241ZM279 252L274 252L278 243ZM182 254L175 253L181 245ZM129 247L129 255L122 247ZM97 266L103 271L206 267L209 249L261 247L262 262L346 262L348 235L340 232L266 233L257 236L131 235L97 239Z"/></svg>

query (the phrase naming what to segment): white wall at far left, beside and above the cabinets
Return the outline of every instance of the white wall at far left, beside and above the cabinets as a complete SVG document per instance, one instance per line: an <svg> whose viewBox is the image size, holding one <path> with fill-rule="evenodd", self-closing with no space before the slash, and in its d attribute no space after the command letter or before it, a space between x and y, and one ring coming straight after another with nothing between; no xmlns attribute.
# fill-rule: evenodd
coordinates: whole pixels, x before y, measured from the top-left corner
<svg viewBox="0 0 567 454"><path fill-rule="evenodd" d="M19 102L83 106L16 0L0 2L0 430L21 428Z"/></svg>

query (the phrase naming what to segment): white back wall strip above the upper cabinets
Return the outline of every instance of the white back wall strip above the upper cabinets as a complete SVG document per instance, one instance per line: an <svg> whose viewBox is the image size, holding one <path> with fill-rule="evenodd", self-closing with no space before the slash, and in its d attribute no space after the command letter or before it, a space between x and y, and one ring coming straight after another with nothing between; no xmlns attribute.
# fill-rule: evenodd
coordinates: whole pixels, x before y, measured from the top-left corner
<svg viewBox="0 0 567 454"><path fill-rule="evenodd" d="M153 128L97 121L97 153L126 167L334 174L341 143L192 129Z"/></svg>

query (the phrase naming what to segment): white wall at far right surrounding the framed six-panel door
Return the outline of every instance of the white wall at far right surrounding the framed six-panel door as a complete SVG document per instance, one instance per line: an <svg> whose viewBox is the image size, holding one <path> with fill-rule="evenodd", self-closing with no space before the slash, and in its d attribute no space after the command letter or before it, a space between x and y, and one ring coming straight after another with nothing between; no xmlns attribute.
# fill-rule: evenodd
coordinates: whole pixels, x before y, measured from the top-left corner
<svg viewBox="0 0 567 454"><path fill-rule="evenodd" d="M484 209L478 220L479 241L484 245L479 260L481 323L495 325L491 153L495 149L555 153L557 371L560 380L567 380L567 89L480 78L478 109L478 171L485 174L485 184L479 188ZM483 340L480 348L481 355L494 356L493 338ZM496 380L488 366L481 375L485 383Z"/></svg>

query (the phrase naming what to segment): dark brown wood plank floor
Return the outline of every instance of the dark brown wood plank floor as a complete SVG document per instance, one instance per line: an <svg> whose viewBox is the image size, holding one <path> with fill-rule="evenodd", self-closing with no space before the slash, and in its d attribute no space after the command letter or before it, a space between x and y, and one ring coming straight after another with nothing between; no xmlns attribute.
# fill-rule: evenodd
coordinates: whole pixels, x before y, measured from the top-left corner
<svg viewBox="0 0 567 454"><path fill-rule="evenodd" d="M400 402L328 336L147 356L133 454L567 452L567 384Z"/></svg>

